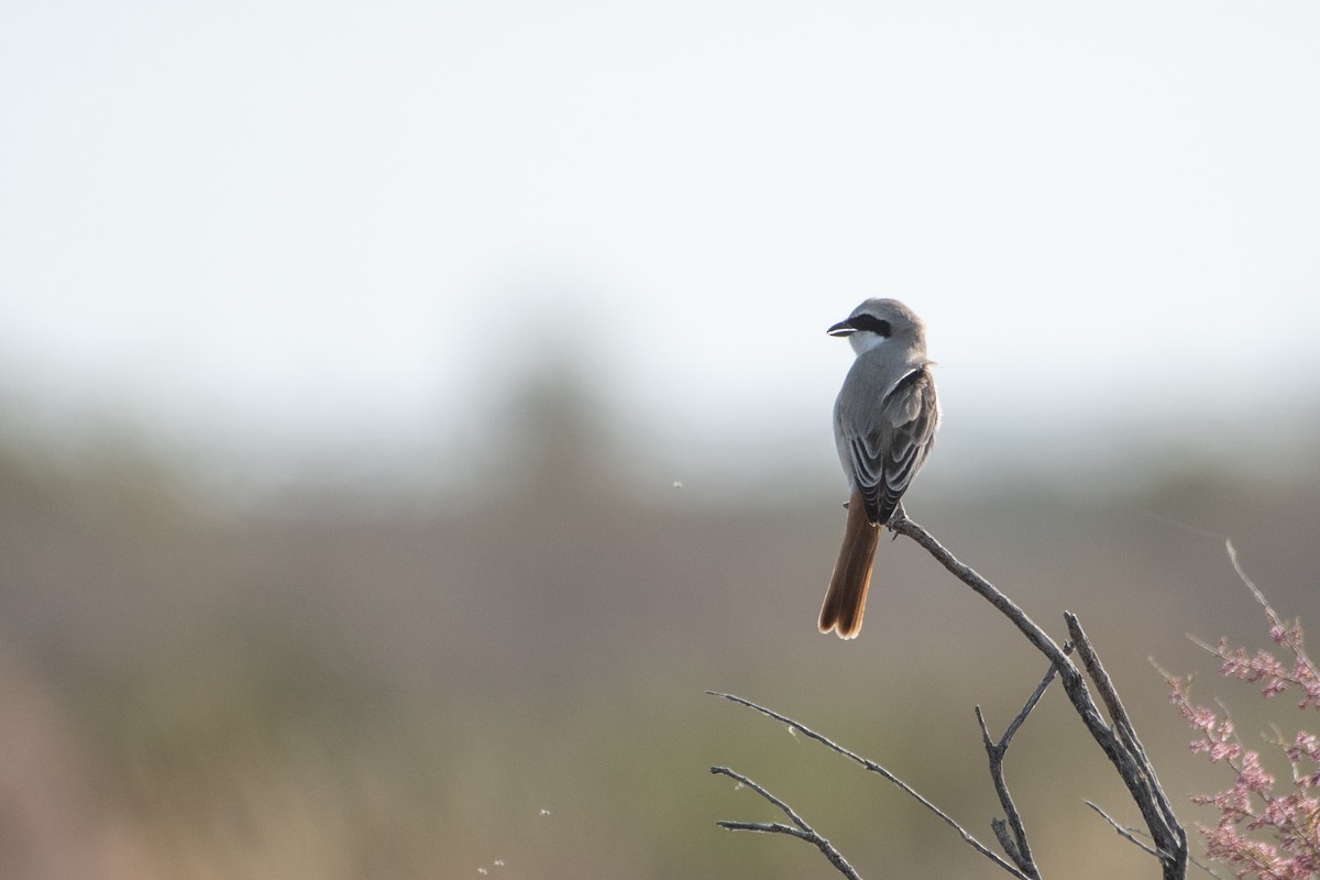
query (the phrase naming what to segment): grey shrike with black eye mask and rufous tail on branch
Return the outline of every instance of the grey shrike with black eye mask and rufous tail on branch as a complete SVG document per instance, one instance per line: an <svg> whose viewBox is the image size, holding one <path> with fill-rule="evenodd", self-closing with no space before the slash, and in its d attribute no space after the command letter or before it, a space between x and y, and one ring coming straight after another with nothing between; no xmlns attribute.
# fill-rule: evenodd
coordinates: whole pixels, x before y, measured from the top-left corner
<svg viewBox="0 0 1320 880"><path fill-rule="evenodd" d="M829 334L846 336L857 358L834 401L834 443L850 499L820 628L854 639L862 629L880 526L931 454L940 405L925 327L898 299L867 299Z"/></svg>

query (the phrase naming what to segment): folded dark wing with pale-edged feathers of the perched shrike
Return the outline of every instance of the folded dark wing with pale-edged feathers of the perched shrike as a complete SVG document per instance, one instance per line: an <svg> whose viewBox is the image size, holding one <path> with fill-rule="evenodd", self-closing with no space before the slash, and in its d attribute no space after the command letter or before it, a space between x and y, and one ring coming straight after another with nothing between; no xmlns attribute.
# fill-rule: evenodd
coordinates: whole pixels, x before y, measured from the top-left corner
<svg viewBox="0 0 1320 880"><path fill-rule="evenodd" d="M908 371L870 412L846 441L867 517L879 525L888 522L935 445L940 409L929 369L923 364Z"/></svg>

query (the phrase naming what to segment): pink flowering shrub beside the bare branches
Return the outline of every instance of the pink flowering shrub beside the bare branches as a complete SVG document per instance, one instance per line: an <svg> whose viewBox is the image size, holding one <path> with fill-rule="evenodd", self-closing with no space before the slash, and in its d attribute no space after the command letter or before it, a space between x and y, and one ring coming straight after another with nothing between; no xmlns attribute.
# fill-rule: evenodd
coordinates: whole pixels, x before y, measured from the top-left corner
<svg viewBox="0 0 1320 880"><path fill-rule="evenodd" d="M1229 555L1237 566L1232 545ZM1287 649L1291 662L1276 660L1266 650L1254 654L1243 648L1230 650L1222 639L1216 646L1199 644L1222 661L1221 676L1259 685L1266 698L1291 690L1299 694L1299 710L1320 708L1320 672L1303 649L1300 623L1282 623L1241 567L1238 574L1265 610L1270 639ZM1220 811L1213 829L1200 829L1210 859L1232 868L1237 877L1316 877L1320 872L1320 739L1303 730L1291 740L1278 731L1267 740L1287 757L1292 770L1292 778L1276 790L1275 777L1261 767L1261 753L1242 745L1222 703L1218 710L1196 706L1188 690L1191 679L1166 674L1166 681L1170 702L1199 734L1192 740L1192 751L1205 755L1212 764L1228 765L1234 774L1228 789L1192 798Z"/></svg>

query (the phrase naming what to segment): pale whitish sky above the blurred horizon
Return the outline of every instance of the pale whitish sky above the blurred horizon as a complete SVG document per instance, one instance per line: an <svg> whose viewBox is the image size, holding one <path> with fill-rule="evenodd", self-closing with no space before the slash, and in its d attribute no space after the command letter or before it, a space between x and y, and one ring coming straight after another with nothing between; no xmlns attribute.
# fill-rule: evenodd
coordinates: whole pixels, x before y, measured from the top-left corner
<svg viewBox="0 0 1320 880"><path fill-rule="evenodd" d="M1317 46L1315 3L8 3L0 393L388 454L568 348L676 467L832 456L824 331L891 296L954 450L1313 429Z"/></svg>

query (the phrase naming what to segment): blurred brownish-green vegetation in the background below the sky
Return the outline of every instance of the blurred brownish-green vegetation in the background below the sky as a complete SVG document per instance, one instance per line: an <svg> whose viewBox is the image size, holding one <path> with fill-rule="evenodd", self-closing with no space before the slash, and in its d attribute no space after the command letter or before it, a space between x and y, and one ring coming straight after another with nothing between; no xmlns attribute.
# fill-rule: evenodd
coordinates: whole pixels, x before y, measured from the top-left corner
<svg viewBox="0 0 1320 880"><path fill-rule="evenodd" d="M145 443L11 437L0 876L830 876L810 847L719 831L777 817L710 764L792 802L866 876L998 876L902 794L702 691L792 715L989 840L972 707L1002 727L1044 672L1003 621L896 541L862 639L820 636L836 487L648 487L574 383L520 400L525 443L484 459L480 495L426 504L363 487L235 505ZM1081 615L1183 803L1217 786L1146 658L1212 669L1188 631L1261 641L1213 534L1320 627L1320 480L1315 462L1263 482L1146 467L1139 493L1104 476L1078 493L949 484L935 460L908 509L1051 631ZM1138 822L1057 694L1008 778L1047 873L1155 876L1082 805Z"/></svg>

